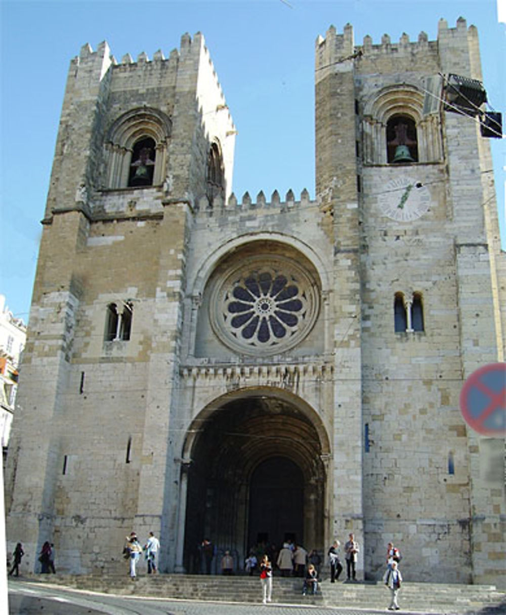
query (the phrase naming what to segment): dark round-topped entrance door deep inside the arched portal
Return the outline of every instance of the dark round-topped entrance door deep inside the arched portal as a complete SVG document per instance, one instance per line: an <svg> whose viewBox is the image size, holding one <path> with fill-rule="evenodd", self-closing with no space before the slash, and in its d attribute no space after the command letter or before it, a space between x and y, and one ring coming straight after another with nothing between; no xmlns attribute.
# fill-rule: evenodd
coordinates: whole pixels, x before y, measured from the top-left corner
<svg viewBox="0 0 506 615"><path fill-rule="evenodd" d="M286 457L261 462L251 475L248 546L304 541L304 478Z"/></svg>

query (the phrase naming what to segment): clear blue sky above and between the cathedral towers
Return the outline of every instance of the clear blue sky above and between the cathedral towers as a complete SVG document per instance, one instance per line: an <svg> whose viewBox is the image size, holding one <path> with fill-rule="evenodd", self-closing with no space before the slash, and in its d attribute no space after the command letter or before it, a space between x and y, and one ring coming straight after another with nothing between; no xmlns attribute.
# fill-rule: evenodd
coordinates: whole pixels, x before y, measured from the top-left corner
<svg viewBox="0 0 506 615"><path fill-rule="evenodd" d="M501 0L502 1L502 0ZM28 320L66 75L83 44L106 40L118 62L130 53L165 57L181 34L202 31L239 134L238 197L263 189L314 188L314 42L330 25L354 26L355 44L384 33L437 38L438 20L462 15L478 28L489 102L506 111L505 26L496 0L0 0L0 293ZM504 140L492 139L504 220ZM503 225L503 247L504 225Z"/></svg>

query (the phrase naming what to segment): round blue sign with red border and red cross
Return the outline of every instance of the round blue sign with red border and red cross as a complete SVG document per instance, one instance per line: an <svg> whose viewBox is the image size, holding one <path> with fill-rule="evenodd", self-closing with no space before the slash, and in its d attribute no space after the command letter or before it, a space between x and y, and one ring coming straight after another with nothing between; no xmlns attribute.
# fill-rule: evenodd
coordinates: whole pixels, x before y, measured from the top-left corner
<svg viewBox="0 0 506 615"><path fill-rule="evenodd" d="M489 363L473 371L462 387L461 411L478 434L506 435L506 363Z"/></svg>

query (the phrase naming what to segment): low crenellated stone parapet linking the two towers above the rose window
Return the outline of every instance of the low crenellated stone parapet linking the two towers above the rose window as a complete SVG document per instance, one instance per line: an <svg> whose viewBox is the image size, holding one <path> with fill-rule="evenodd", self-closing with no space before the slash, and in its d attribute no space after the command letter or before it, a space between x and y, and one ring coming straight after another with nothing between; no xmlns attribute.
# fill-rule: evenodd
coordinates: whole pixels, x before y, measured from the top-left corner
<svg viewBox="0 0 506 615"><path fill-rule="evenodd" d="M316 206L317 202L310 200L309 192L304 188L299 200L295 199L295 194L291 189L285 195L285 200L281 200L277 190L272 192L271 200L269 201L267 201L263 190L258 192L256 200L251 199L249 192L245 192L240 200L237 199L234 192L232 192L227 200L217 196L213 199L212 203L209 202L206 196L203 196L199 200L198 209L201 214L212 213L215 215L217 213L228 214L232 212L255 212L258 210L288 212L294 209Z"/></svg>

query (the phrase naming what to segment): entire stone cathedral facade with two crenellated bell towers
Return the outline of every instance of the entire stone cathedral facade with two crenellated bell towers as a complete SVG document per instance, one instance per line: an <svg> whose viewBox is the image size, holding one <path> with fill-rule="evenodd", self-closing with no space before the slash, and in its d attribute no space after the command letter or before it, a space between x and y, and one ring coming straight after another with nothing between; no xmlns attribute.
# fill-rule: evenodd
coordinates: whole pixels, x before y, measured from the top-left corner
<svg viewBox="0 0 506 615"><path fill-rule="evenodd" d="M407 579L504 583L504 442L459 395L504 360L506 261L489 141L441 100L481 80L476 30L315 55L314 200L234 196L200 34L72 60L7 460L28 568L49 540L122 571L131 530L189 573L205 537L240 567L353 531L360 577L393 540Z"/></svg>

